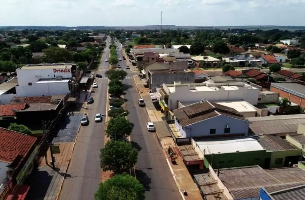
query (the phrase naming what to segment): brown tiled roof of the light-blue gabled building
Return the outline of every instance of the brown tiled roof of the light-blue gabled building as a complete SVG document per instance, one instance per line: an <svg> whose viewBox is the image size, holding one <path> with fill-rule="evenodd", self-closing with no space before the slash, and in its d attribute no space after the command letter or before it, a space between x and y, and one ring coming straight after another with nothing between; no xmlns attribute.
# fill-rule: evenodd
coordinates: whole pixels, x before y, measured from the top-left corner
<svg viewBox="0 0 305 200"><path fill-rule="evenodd" d="M217 103L203 101L174 110L175 117L182 127L219 115L245 120L242 114L233 108Z"/></svg>

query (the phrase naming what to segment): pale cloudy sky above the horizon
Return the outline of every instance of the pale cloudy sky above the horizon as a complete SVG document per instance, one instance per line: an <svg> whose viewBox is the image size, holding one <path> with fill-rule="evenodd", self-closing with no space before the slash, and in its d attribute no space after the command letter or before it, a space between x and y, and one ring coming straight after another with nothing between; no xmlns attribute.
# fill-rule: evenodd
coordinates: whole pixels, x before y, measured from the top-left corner
<svg viewBox="0 0 305 200"><path fill-rule="evenodd" d="M0 0L0 26L305 26L305 0Z"/></svg>

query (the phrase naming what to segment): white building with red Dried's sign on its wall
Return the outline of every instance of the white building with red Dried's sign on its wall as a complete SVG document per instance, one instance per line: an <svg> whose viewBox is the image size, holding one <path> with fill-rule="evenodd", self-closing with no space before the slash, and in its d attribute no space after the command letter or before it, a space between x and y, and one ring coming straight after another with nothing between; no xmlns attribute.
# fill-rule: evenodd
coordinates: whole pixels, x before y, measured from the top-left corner
<svg viewBox="0 0 305 200"><path fill-rule="evenodd" d="M17 96L52 96L70 93L71 68L71 64L45 64L17 69Z"/></svg>

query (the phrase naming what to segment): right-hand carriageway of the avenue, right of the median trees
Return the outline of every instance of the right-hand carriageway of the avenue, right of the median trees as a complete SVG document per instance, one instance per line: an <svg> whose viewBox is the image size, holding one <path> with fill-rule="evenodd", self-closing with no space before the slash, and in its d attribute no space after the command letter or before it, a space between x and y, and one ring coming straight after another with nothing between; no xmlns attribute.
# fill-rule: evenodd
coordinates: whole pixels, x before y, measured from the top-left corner
<svg viewBox="0 0 305 200"><path fill-rule="evenodd" d="M116 44L118 46L118 44ZM122 58L122 52L118 51L118 57ZM124 62L124 61L122 61ZM125 62L122 68L125 68ZM135 75L128 72L128 76ZM181 199L174 178L165 160L165 156L159 145L156 133L148 132L146 122L149 121L144 107L139 107L137 100L140 95L133 79L124 79L127 88L124 98L128 101L126 109L130 112L128 119L135 125L131 134L133 145L139 150L138 162L135 166L136 177L146 188L146 200Z"/></svg>

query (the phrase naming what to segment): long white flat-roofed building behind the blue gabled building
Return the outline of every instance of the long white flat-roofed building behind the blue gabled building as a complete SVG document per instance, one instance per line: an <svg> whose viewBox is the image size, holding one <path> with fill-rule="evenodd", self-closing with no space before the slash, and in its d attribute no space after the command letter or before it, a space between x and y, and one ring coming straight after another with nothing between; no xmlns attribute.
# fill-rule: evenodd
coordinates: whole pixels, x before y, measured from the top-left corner
<svg viewBox="0 0 305 200"><path fill-rule="evenodd" d="M168 109L178 108L179 102L208 101L247 101L257 105L259 88L244 82L219 82L210 80L203 83L163 84L159 95L168 96Z"/></svg>

